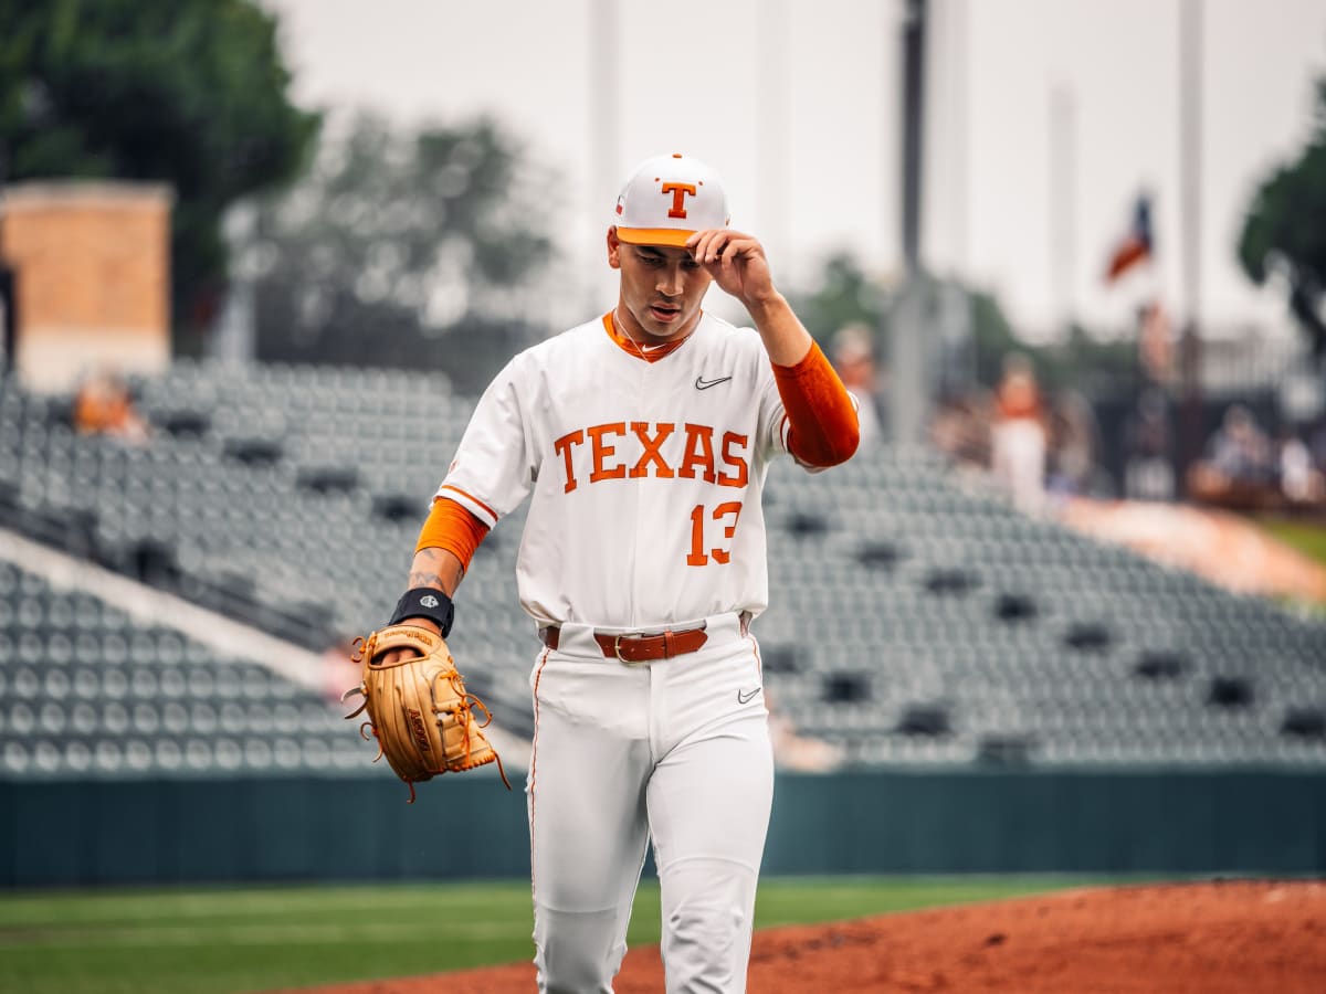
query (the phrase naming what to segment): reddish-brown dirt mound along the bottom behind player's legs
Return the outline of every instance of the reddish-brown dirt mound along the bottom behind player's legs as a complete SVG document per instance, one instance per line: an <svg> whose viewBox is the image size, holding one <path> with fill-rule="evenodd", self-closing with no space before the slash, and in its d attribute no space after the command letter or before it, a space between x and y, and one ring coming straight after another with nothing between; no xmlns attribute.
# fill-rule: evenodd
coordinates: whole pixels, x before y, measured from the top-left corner
<svg viewBox="0 0 1326 994"><path fill-rule="evenodd" d="M320 994L528 994L526 964L324 987ZM663 990L658 946L618 994ZM1326 883L1232 880L1062 891L760 932L752 994L821 991L1326 991Z"/></svg>

